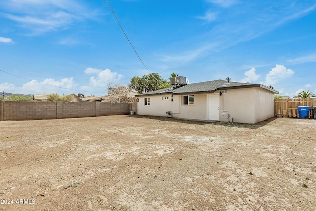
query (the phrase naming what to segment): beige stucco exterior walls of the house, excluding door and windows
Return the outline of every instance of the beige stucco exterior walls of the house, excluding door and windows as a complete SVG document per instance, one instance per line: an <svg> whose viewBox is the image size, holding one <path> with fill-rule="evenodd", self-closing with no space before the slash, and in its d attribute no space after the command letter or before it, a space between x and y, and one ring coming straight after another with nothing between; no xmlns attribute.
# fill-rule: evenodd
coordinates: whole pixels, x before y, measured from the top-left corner
<svg viewBox="0 0 316 211"><path fill-rule="evenodd" d="M215 94L219 95L219 91ZM183 95L174 95L173 102L162 100L164 96L171 99L171 95L149 96L149 106L145 106L145 97L139 97L138 114L167 116L166 111L172 111L175 118L207 120L207 94L194 94L194 105L182 105ZM228 89L219 100L221 122L234 119L234 122L253 124L274 116L274 93L263 88Z"/></svg>

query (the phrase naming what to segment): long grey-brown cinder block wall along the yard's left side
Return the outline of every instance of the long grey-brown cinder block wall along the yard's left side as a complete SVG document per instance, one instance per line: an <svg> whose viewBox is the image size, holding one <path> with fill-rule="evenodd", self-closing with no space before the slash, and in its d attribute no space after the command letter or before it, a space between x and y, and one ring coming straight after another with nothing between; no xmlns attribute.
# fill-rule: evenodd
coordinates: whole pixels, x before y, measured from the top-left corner
<svg viewBox="0 0 316 211"><path fill-rule="evenodd" d="M137 103L0 101L0 121L94 117L137 112Z"/></svg>

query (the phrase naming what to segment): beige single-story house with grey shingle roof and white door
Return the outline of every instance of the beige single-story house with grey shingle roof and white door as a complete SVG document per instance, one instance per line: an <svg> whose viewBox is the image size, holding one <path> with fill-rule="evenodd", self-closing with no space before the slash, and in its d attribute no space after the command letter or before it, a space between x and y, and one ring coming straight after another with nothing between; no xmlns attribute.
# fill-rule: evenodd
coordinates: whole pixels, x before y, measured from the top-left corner
<svg viewBox="0 0 316 211"><path fill-rule="evenodd" d="M230 78L181 84L136 95L137 113L253 124L274 117L277 93L263 84L232 82Z"/></svg>

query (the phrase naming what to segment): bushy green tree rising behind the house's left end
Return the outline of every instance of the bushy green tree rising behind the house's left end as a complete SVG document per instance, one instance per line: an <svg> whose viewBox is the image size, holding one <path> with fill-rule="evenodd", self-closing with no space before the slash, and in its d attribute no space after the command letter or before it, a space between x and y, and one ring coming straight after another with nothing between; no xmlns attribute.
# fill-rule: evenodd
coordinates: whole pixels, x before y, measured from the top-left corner
<svg viewBox="0 0 316 211"><path fill-rule="evenodd" d="M163 79L158 73L151 73L148 75L143 75L141 78L139 76L134 76L130 80L129 87L142 94L155 91L160 88L170 87L170 85L166 85L167 80Z"/></svg>

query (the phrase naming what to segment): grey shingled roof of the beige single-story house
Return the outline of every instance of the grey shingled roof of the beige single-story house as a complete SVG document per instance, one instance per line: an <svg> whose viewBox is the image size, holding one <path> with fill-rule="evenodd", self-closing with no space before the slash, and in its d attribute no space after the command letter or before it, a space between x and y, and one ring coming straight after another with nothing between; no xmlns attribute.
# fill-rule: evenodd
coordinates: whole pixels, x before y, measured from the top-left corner
<svg viewBox="0 0 316 211"><path fill-rule="evenodd" d="M193 83L193 84L187 84L184 86L181 86L179 88L164 88L159 89L156 91L151 91L143 94L138 94L136 97L140 96L149 96L149 95L157 95L162 93L167 94L173 94L173 95L180 95L180 94L203 94L203 93L211 93L218 90L227 90L227 89L239 89L239 88L252 88L252 87L260 87L264 88L268 91L278 93L278 91L269 88L268 86L265 86L263 84L250 84L250 83L242 83L242 82L227 82L226 80L214 80L214 81L208 81L208 82L199 82L199 83Z"/></svg>

